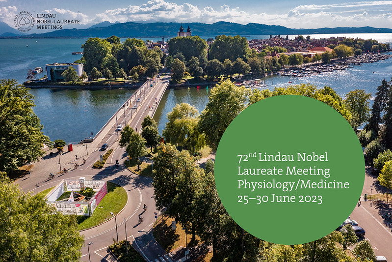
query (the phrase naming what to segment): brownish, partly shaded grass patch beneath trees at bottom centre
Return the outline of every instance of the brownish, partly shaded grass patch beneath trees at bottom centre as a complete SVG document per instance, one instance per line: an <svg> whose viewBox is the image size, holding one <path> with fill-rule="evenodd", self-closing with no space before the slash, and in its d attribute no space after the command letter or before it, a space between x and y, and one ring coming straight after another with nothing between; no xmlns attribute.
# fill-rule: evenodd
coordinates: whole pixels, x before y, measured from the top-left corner
<svg viewBox="0 0 392 262"><path fill-rule="evenodd" d="M154 224L153 235L157 242L163 247L166 252L171 252L176 248L183 246L185 247L185 231L180 223L177 224L176 230L172 230L172 221L174 218L170 218L166 215L163 216L163 236L162 236L162 216L158 217L157 223ZM190 242L192 238L191 234L186 235L187 246L197 246L200 244L200 238L196 235L196 240Z"/></svg>

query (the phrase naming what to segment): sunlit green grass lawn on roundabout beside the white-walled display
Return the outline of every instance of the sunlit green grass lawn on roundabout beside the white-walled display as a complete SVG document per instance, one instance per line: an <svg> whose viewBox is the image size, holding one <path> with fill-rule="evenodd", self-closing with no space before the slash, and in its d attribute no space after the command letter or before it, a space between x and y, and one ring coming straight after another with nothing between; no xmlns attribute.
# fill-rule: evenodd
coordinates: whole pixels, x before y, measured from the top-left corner
<svg viewBox="0 0 392 262"><path fill-rule="evenodd" d="M110 212L115 215L120 212L125 204L127 204L128 195L121 186L107 182L107 194L104 199L98 204L92 216L77 216L78 230L88 229L97 226L112 216Z"/></svg>

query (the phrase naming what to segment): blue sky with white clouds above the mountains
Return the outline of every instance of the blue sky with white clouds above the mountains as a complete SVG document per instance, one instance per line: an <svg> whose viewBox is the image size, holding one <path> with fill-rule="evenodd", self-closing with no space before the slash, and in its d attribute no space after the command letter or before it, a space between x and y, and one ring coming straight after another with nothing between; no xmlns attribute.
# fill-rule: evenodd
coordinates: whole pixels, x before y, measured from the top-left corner
<svg viewBox="0 0 392 262"><path fill-rule="evenodd" d="M0 0L0 21L9 26L15 28L13 21L20 11L79 19L80 25L71 28L86 28L104 21L208 24L226 21L305 29L392 28L392 0Z"/></svg>

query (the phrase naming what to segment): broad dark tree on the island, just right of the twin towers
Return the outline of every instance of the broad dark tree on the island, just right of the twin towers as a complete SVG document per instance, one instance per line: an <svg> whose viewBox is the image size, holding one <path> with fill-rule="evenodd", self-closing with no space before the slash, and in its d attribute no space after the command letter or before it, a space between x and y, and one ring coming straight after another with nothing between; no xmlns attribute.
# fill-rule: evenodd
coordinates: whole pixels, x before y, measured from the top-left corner
<svg viewBox="0 0 392 262"><path fill-rule="evenodd" d="M245 37L218 35L209 48L209 59L223 62L229 58L234 61L236 58L245 58L247 52L249 45Z"/></svg>

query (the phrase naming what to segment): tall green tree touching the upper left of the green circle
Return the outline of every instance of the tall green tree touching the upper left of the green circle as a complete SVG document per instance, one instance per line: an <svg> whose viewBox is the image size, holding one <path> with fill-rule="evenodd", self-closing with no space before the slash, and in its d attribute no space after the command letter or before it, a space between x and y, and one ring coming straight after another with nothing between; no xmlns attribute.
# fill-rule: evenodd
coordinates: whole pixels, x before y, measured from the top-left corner
<svg viewBox="0 0 392 262"><path fill-rule="evenodd" d="M228 125L246 108L250 90L236 87L226 80L211 90L206 109L200 115L199 130L206 135L206 142L212 150L218 143Z"/></svg>

